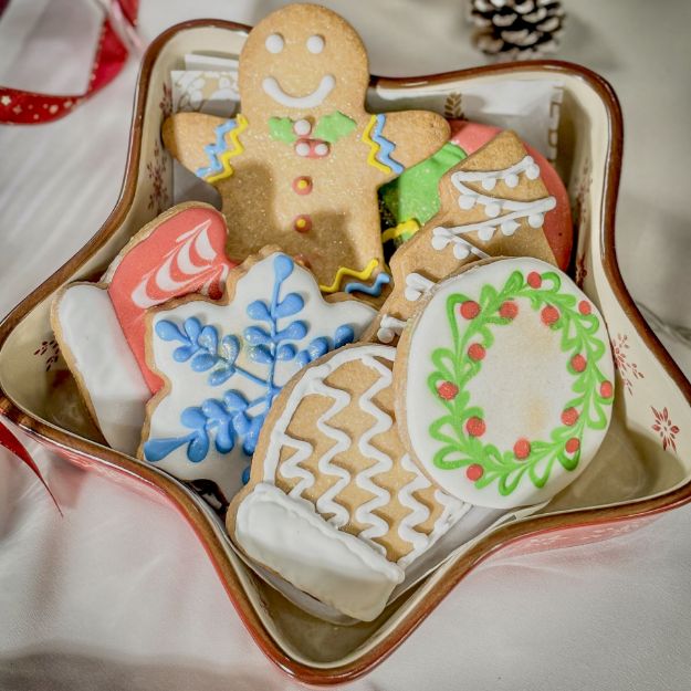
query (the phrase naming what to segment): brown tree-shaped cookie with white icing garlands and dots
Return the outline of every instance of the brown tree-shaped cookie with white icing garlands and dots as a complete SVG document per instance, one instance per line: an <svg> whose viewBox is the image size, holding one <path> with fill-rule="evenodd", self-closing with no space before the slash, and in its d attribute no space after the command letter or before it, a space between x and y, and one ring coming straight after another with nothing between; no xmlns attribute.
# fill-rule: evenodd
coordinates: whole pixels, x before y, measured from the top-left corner
<svg viewBox="0 0 691 691"><path fill-rule="evenodd" d="M469 262L527 255L555 263L543 222L556 200L514 133L451 168L439 189L439 213L391 258L395 289L366 338L395 343L420 296Z"/></svg>

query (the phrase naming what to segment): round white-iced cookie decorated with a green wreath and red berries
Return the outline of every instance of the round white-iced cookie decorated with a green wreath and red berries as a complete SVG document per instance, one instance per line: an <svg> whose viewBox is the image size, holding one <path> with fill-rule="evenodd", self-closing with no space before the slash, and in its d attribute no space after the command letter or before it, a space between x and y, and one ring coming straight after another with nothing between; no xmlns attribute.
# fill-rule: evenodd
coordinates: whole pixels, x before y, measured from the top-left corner
<svg viewBox="0 0 691 691"><path fill-rule="evenodd" d="M437 284L404 331L395 377L411 456L480 506L552 499L585 470L611 416L603 316L536 259L486 260Z"/></svg>

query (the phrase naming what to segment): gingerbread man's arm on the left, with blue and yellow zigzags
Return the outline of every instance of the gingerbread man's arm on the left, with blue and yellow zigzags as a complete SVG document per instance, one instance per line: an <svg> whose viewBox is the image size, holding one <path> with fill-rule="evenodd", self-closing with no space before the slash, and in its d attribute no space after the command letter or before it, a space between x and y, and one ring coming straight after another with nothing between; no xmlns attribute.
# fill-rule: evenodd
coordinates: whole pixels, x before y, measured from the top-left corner
<svg viewBox="0 0 691 691"><path fill-rule="evenodd" d="M177 113L166 119L161 137L166 148L186 168L209 182L227 177L233 136L242 128L242 115L226 119L203 113ZM239 154L240 151L237 151Z"/></svg>

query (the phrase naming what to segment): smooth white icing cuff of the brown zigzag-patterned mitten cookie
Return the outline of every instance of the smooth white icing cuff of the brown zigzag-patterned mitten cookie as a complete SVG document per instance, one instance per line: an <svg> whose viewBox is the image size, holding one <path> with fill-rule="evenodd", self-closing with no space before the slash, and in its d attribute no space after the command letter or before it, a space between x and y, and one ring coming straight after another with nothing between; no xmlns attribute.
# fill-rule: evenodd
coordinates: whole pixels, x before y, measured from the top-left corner
<svg viewBox="0 0 691 691"><path fill-rule="evenodd" d="M305 500L256 484L240 506L235 540L248 556L345 615L371 621L404 579L401 568L336 530Z"/></svg>

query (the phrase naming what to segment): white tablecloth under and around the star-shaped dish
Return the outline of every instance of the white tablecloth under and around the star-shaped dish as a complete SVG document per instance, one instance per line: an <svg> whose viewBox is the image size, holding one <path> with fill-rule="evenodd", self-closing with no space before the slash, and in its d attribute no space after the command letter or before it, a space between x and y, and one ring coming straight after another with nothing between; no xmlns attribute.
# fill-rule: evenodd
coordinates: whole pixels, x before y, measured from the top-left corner
<svg viewBox="0 0 691 691"><path fill-rule="evenodd" d="M280 2L142 0L147 39L192 17L255 22ZM362 32L378 74L478 62L461 0L325 2ZM559 56L608 77L626 116L618 213L634 295L691 324L691 4L566 2ZM81 91L97 13L86 0L13 0L0 83ZM69 259L112 209L134 62L70 117L0 128L0 315ZM691 373L691 354L670 343ZM254 647L172 511L28 442L65 511L0 453L0 689L295 689ZM2 451L0 449L0 451ZM472 574L353 689L685 690L691 687L691 509L607 543Z"/></svg>

